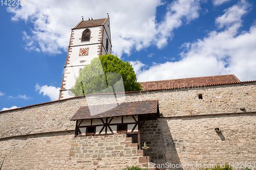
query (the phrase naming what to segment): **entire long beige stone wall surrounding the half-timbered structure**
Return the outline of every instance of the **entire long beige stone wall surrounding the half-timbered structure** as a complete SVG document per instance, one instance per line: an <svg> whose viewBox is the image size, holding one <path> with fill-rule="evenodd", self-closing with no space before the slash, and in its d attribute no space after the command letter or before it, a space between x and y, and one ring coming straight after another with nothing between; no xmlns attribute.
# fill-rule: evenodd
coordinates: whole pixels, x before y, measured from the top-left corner
<svg viewBox="0 0 256 170"><path fill-rule="evenodd" d="M162 117L145 122L141 130L141 144L146 141L151 147L148 154L153 163L252 163L256 160L255 84L248 82L199 89L125 93L118 100L135 102L158 99ZM203 99L199 99L198 94L202 94ZM134 146L126 150L127 141L122 139L124 136L112 135L116 137L115 146L122 146L122 149L116 150L118 148L110 147L110 140L114 138L74 138L74 132L68 133L75 129L75 122L70 121L71 116L92 99L97 104L115 102L110 95L91 95L0 112L0 165L6 156L3 169L69 169L88 168L89 165L103 169L104 162L117 159L114 156L122 159L117 160L115 166L123 167L125 164L120 164L121 161L128 164L133 158L136 159L135 164L140 164L141 151L135 153ZM215 128L220 128L221 133L216 133ZM46 132L49 133L40 134ZM97 140L104 142L102 146L91 145L96 162L91 157L87 158L90 149L83 149L82 144L90 145L83 142Z"/></svg>

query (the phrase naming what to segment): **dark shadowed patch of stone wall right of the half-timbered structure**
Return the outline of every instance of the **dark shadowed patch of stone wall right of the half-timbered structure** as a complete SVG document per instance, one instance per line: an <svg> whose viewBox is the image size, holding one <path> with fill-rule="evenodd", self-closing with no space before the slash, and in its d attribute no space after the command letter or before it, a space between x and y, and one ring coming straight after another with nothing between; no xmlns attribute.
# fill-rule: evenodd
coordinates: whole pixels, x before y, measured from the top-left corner
<svg viewBox="0 0 256 170"><path fill-rule="evenodd" d="M141 147L144 142L150 147L147 149L147 155L150 156L151 162L155 163L156 167L183 169L172 168L172 164L180 165L181 162L176 150L175 139L173 139L165 119L148 120L144 123L141 127Z"/></svg>

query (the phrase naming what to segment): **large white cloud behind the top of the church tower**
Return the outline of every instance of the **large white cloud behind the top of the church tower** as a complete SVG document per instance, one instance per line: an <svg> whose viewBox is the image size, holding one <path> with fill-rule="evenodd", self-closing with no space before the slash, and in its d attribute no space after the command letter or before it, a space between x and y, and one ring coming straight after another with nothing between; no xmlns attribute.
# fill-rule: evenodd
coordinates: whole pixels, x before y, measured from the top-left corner
<svg viewBox="0 0 256 170"><path fill-rule="evenodd" d="M100 4L100 5L99 5ZM155 20L161 0L129 1L36 1L27 6L7 8L12 20L31 22L31 31L23 32L27 50L49 54L66 53L71 28L81 19L106 17L110 14L114 54L121 57L152 43L159 48L173 37L173 30L199 16L199 0L176 0L167 4L167 13L160 23ZM87 10L84 10L86 7ZM131 8L132 7L132 8Z"/></svg>

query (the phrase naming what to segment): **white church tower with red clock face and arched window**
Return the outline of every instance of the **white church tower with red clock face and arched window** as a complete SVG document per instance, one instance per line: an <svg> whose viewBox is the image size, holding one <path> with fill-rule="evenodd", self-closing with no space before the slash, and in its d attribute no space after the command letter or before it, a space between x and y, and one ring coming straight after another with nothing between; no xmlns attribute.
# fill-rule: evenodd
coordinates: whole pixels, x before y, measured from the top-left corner
<svg viewBox="0 0 256 170"><path fill-rule="evenodd" d="M76 78L95 57L111 54L110 19L81 20L71 31L67 60L63 72L59 100L75 96Z"/></svg>

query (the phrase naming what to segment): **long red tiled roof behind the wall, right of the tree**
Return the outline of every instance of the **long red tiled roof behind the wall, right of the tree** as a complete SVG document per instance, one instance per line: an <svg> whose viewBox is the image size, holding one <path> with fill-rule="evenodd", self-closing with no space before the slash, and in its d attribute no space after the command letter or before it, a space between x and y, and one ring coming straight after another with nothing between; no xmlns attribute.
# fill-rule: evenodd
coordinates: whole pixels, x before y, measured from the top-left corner
<svg viewBox="0 0 256 170"><path fill-rule="evenodd" d="M207 76L185 79L161 80L141 82L143 91L157 89L174 89L186 87L209 86L225 83L238 83L240 80L234 75Z"/></svg>

